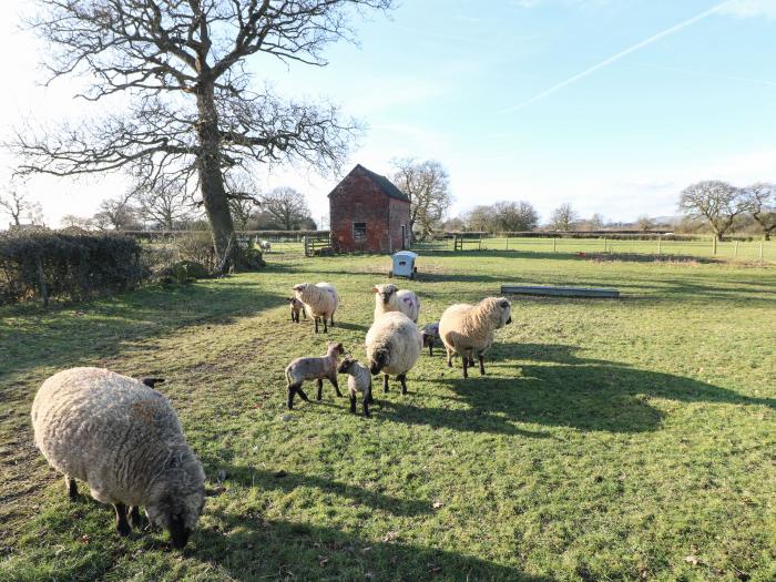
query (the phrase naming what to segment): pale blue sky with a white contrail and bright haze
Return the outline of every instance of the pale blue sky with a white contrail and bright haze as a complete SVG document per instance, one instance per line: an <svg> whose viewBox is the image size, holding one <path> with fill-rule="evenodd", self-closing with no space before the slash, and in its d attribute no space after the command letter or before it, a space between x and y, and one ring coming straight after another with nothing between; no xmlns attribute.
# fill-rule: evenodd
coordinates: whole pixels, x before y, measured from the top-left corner
<svg viewBox="0 0 776 582"><path fill-rule="evenodd" d="M25 120L89 118L78 81L45 80L45 48L19 29L24 0L7 0L0 51L0 140ZM502 200L542 219L571 203L611 221L675 215L700 180L776 180L776 0L402 0L356 20L358 44L330 45L325 68L258 55L255 83L295 99L328 99L367 131L350 159L381 174L391 160L441 162L450 215ZM0 176L17 163L0 152ZM304 192L328 213L338 176L304 166L261 171L262 188ZM22 185L49 225L89 216L129 186L34 177Z"/></svg>

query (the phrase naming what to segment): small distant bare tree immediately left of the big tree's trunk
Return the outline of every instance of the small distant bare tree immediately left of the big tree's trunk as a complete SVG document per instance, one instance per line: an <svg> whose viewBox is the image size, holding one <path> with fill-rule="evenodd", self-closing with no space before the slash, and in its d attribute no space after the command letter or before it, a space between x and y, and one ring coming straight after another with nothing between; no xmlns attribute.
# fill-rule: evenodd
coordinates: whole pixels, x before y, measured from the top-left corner
<svg viewBox="0 0 776 582"><path fill-rule="evenodd" d="M195 214L192 195L182 180L161 176L152 183L141 181L130 193L130 200L137 204L136 214L143 222L166 231L192 219Z"/></svg>

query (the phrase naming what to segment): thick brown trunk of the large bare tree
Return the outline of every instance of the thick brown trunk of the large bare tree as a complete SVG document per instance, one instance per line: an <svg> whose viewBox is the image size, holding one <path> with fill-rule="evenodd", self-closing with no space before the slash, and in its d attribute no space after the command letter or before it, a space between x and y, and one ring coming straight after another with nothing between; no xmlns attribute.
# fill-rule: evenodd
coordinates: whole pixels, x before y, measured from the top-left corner
<svg viewBox="0 0 776 582"><path fill-rule="evenodd" d="M229 270L234 258L234 223L221 171L218 114L212 84L201 85L196 105L200 113L197 137L201 147L196 159L196 171L207 219L213 228L216 270L223 274Z"/></svg>

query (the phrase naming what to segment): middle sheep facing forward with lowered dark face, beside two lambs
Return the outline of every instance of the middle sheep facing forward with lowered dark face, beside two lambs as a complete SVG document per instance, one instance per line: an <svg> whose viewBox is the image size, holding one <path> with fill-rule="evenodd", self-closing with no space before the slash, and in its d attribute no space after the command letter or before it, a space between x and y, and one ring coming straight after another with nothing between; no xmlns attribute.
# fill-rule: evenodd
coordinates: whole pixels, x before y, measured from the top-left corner
<svg viewBox="0 0 776 582"><path fill-rule="evenodd" d="M415 321L399 312L384 314L367 331L366 344L369 371L374 376L385 374L382 390L388 391L388 376L395 375L401 382L401 394L407 394L407 372L422 350Z"/></svg>

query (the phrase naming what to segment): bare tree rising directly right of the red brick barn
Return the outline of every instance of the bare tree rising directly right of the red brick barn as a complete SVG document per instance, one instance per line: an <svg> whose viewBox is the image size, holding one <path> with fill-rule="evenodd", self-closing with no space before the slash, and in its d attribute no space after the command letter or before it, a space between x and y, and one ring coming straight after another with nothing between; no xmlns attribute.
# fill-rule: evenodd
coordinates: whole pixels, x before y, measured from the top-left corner
<svg viewBox="0 0 776 582"><path fill-rule="evenodd" d="M409 196L409 229L415 238L433 233L452 204L447 170L436 160L418 162L413 157L394 160L394 183ZM417 227L417 228L416 228Z"/></svg>

